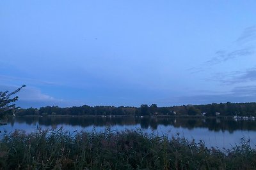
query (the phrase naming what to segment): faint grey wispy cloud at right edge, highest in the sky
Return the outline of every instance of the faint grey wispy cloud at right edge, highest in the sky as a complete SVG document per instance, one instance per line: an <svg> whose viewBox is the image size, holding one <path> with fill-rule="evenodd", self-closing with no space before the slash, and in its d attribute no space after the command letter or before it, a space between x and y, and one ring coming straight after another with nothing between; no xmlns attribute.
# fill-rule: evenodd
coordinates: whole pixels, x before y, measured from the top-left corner
<svg viewBox="0 0 256 170"><path fill-rule="evenodd" d="M256 26L247 27L244 29L243 33L239 38L237 38L237 42L239 43L248 43L249 41L253 41L256 39Z"/></svg>

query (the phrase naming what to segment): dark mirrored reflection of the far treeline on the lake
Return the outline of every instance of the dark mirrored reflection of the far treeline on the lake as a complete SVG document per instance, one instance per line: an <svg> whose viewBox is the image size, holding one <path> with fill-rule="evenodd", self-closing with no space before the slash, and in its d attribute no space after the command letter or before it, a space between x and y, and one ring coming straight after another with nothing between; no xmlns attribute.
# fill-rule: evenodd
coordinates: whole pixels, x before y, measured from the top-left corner
<svg viewBox="0 0 256 170"><path fill-rule="evenodd" d="M232 118L201 118L201 117L13 117L8 124L44 125L57 127L57 125L71 125L79 127L106 127L140 125L142 129L157 129L159 125L194 129L196 127L207 128L209 131L230 133L234 131L256 131L256 121L235 121Z"/></svg>

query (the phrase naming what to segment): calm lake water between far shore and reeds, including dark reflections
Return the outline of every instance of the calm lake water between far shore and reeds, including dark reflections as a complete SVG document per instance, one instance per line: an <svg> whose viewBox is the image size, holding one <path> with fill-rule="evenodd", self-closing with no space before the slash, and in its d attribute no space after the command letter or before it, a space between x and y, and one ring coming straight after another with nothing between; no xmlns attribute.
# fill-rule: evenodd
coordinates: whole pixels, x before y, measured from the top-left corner
<svg viewBox="0 0 256 170"><path fill-rule="evenodd" d="M241 138L250 139L256 148L256 121L234 120L228 117L12 117L8 124L0 126L0 135L15 129L35 132L38 128L60 129L70 133L76 131L101 132L106 127L113 131L141 129L148 134L168 135L203 140L207 147L232 148Z"/></svg>

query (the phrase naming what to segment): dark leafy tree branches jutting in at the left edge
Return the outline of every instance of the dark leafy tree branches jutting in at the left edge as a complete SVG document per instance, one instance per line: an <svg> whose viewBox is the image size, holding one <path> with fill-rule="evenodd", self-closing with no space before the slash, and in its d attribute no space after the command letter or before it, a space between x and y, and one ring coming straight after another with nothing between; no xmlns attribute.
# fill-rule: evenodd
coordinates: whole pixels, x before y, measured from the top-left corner
<svg viewBox="0 0 256 170"><path fill-rule="evenodd" d="M26 87L26 85L22 85L19 89L14 92L10 92L6 90L5 92L0 92L0 118L3 118L9 113L12 113L12 110L16 110L15 101L18 100L18 96L12 98L14 94L19 92L22 88Z"/></svg>

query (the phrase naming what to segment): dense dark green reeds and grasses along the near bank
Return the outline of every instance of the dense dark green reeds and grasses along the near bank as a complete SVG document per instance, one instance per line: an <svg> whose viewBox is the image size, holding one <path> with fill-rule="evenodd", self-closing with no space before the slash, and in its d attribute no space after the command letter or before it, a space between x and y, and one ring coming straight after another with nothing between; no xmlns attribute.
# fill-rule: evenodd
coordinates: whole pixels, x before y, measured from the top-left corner
<svg viewBox="0 0 256 170"><path fill-rule="evenodd" d="M140 131L15 131L0 142L1 169L256 169L248 141L231 150Z"/></svg>

